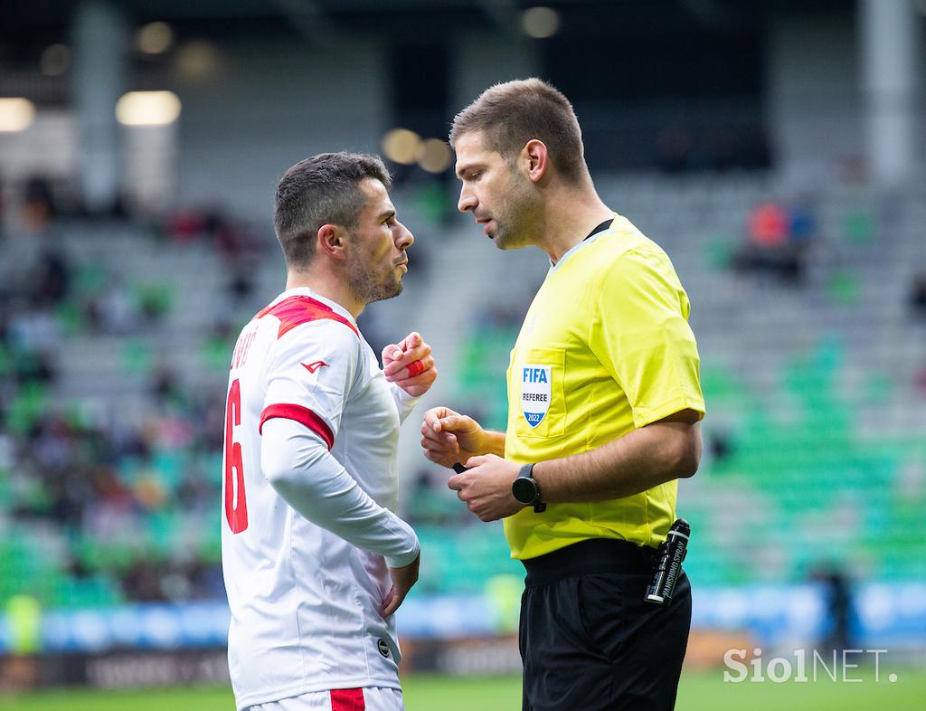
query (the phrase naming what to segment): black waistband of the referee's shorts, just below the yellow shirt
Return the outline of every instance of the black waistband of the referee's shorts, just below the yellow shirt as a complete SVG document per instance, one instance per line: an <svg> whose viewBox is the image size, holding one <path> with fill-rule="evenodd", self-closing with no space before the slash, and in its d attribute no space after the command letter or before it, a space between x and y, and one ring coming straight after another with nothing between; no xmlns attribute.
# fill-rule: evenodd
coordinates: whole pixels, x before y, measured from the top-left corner
<svg viewBox="0 0 926 711"><path fill-rule="evenodd" d="M590 538L552 553L525 558L524 584L546 585L555 580L590 573L648 574L653 571L656 549L614 538Z"/></svg>

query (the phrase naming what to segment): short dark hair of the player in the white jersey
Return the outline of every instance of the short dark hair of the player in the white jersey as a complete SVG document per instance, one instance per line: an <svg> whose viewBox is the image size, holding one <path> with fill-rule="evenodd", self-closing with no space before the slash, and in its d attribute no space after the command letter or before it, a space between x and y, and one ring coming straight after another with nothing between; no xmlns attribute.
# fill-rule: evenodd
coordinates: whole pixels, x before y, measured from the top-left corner
<svg viewBox="0 0 926 711"><path fill-rule="evenodd" d="M289 168L277 184L273 229L288 268L305 268L315 256L322 225L357 227L364 206L360 181L373 178L386 190L389 171L378 156L366 153L319 153Z"/></svg>

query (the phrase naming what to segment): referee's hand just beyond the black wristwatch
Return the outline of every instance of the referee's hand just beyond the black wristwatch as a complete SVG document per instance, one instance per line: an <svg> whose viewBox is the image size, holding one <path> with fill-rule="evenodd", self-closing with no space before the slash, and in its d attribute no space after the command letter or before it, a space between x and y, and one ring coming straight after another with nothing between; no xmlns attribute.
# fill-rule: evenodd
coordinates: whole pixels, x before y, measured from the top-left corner
<svg viewBox="0 0 926 711"><path fill-rule="evenodd" d="M519 466L496 455L471 457L468 469L447 480L447 487L457 492L476 516L494 521L517 514L524 505L511 493L511 483L517 479Z"/></svg>

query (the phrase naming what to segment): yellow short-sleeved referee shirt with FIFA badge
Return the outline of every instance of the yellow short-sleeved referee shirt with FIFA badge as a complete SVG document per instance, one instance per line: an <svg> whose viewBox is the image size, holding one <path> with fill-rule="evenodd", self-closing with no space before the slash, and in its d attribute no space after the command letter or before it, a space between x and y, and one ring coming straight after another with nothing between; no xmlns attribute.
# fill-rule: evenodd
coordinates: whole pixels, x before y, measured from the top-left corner
<svg viewBox="0 0 926 711"><path fill-rule="evenodd" d="M511 351L505 457L578 455L684 409L704 415L688 297L669 256L616 216L550 268ZM589 538L656 546L677 481L622 499L505 519L514 558Z"/></svg>

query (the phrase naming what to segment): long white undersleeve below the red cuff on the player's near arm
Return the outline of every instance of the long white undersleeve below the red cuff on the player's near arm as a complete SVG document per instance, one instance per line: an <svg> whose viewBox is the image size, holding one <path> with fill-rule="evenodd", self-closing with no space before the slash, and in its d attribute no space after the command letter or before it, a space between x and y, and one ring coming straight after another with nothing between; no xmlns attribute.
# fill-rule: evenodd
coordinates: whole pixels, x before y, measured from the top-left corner
<svg viewBox="0 0 926 711"><path fill-rule="evenodd" d="M373 501L313 430L292 419L269 419L260 465L286 503L317 526L382 555L390 568L418 557L418 536L411 526Z"/></svg>

